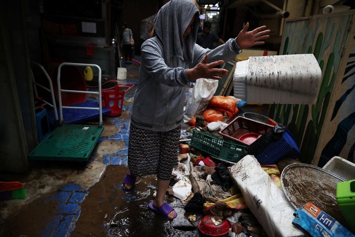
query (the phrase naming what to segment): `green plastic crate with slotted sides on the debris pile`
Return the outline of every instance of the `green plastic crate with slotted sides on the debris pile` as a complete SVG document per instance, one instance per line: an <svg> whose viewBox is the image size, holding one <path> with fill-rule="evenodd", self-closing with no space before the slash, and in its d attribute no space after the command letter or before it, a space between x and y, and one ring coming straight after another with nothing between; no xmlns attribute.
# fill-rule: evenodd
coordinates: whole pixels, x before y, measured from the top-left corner
<svg viewBox="0 0 355 237"><path fill-rule="evenodd" d="M191 146L203 150L207 154L229 162L238 162L246 145L227 140L198 130L192 131Z"/></svg>

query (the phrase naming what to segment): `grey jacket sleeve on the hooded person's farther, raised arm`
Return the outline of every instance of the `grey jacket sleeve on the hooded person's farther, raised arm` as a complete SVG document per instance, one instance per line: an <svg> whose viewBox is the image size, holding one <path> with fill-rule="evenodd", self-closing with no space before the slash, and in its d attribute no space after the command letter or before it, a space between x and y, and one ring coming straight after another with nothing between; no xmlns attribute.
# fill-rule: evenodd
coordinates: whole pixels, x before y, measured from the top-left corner
<svg viewBox="0 0 355 237"><path fill-rule="evenodd" d="M195 44L194 47L194 62L192 68L196 66L198 62L204 59L205 55L209 55L208 63L214 62L217 60L224 60L225 62L231 60L238 53L241 52L241 49L237 45L235 39L228 39L226 44L220 45L217 48L210 50L204 49L199 45Z"/></svg>

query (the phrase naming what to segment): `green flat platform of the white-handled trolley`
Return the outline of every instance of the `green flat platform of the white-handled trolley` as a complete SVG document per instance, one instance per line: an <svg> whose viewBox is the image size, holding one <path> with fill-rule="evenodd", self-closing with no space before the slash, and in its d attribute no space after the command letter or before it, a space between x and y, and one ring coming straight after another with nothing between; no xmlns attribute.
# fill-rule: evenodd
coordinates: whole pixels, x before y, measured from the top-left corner
<svg viewBox="0 0 355 237"><path fill-rule="evenodd" d="M87 161L103 126L64 124L55 128L29 155L32 160Z"/></svg>

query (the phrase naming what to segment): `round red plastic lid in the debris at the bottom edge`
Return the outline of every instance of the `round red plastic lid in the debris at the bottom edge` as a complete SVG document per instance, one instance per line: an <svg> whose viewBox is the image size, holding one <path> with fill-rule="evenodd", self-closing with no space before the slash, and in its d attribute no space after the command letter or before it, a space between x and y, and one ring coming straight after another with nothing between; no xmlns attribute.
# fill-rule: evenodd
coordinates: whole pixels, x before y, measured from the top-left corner
<svg viewBox="0 0 355 237"><path fill-rule="evenodd" d="M201 221L199 221L198 230L208 236L222 236L227 234L229 228L231 228L229 222L224 219L220 225L216 226L211 220L211 217L211 215L207 215Z"/></svg>

